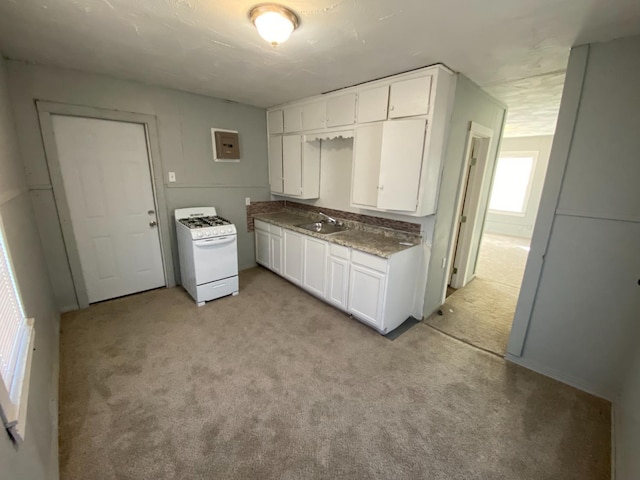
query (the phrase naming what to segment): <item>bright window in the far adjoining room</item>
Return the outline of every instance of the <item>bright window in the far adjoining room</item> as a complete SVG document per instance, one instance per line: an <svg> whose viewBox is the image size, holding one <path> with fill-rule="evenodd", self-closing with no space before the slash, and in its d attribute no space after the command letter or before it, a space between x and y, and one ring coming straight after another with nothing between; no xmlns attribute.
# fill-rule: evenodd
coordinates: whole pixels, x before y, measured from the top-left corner
<svg viewBox="0 0 640 480"><path fill-rule="evenodd" d="M489 210L524 215L537 152L505 152L496 163Z"/></svg>

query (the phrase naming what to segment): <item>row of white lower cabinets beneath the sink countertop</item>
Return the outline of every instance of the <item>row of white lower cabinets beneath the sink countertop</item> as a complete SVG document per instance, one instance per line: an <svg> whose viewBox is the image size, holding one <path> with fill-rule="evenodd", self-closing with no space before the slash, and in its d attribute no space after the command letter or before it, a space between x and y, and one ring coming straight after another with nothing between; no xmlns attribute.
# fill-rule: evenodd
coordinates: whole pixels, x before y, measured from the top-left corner
<svg viewBox="0 0 640 480"><path fill-rule="evenodd" d="M421 249L382 258L262 221L256 262L344 310L382 334L415 312Z"/></svg>

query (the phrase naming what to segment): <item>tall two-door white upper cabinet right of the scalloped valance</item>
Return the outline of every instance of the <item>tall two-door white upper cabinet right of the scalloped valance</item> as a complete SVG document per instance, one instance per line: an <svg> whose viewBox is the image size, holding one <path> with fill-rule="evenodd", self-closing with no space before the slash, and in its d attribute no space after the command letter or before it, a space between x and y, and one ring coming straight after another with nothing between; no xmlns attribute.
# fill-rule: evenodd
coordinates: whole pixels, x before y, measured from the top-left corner
<svg viewBox="0 0 640 480"><path fill-rule="evenodd" d="M382 210L416 211L425 132L423 118L358 126L351 203Z"/></svg>

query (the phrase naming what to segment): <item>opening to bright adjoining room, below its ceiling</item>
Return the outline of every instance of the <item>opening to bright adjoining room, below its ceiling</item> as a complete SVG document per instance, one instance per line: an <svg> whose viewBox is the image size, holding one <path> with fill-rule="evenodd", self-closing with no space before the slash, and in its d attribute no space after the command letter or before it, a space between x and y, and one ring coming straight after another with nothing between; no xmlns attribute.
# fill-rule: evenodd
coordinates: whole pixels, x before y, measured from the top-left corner
<svg viewBox="0 0 640 480"><path fill-rule="evenodd" d="M552 135L505 138L495 165L485 172L474 171L482 150L470 140L447 298L428 319L434 328L491 353L506 353L552 140ZM474 184L488 189L484 205L476 200Z"/></svg>

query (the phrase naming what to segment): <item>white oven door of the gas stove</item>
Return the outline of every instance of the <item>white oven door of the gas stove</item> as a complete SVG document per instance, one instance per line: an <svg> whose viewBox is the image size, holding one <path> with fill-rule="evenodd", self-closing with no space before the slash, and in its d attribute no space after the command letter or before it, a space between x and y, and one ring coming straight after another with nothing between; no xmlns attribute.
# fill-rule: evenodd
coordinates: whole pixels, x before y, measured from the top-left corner
<svg viewBox="0 0 640 480"><path fill-rule="evenodd" d="M194 241L193 257L197 285L238 275L236 235Z"/></svg>

